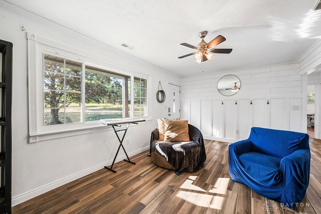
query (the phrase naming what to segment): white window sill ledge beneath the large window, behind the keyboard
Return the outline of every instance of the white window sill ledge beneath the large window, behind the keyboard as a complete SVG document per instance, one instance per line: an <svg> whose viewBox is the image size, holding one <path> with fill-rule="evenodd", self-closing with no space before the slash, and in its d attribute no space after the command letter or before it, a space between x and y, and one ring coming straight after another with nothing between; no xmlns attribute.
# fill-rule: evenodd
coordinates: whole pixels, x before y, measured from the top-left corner
<svg viewBox="0 0 321 214"><path fill-rule="evenodd" d="M137 125L144 125L152 123L151 119L146 119L145 122L139 122ZM111 126L105 126L101 123L91 123L90 127L83 127L74 130L67 130L67 131L57 131L51 133L37 133L29 135L29 143L38 143L47 140L59 139L59 138L66 138L76 135L85 135L95 132L106 132L106 131L113 131Z"/></svg>

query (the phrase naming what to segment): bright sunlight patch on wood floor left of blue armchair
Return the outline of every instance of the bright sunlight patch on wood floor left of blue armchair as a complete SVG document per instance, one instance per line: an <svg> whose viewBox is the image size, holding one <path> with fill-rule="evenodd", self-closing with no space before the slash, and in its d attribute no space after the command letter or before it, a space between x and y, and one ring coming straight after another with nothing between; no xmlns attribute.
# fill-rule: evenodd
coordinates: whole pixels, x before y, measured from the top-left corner
<svg viewBox="0 0 321 214"><path fill-rule="evenodd" d="M218 178L214 187L208 192L193 184L196 178L197 176L190 176L180 186L186 190L180 190L176 196L197 206L221 209L230 178Z"/></svg>

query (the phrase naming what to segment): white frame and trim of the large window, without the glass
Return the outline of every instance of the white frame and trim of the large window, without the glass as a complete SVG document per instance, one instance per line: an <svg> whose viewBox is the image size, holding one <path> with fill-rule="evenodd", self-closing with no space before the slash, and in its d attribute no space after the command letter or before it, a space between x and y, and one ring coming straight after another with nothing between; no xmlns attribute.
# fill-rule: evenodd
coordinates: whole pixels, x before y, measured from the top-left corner
<svg viewBox="0 0 321 214"><path fill-rule="evenodd" d="M63 138L79 134L101 132L106 126L99 121L85 121L85 65L94 66L120 75L130 76L130 93L133 93L134 77L147 79L147 96L150 94L150 75L134 71L130 68L110 64L107 60L90 57L90 53L77 54L78 50L36 38L36 35L27 32L28 40L28 93L29 93L29 143ZM44 125L44 53L80 62L82 65L81 76L81 122L62 125ZM148 115L142 117L148 121L151 118L150 99L147 99ZM133 102L130 104L130 113L133 115ZM129 116L130 117L130 116ZM108 127L109 128L109 127Z"/></svg>

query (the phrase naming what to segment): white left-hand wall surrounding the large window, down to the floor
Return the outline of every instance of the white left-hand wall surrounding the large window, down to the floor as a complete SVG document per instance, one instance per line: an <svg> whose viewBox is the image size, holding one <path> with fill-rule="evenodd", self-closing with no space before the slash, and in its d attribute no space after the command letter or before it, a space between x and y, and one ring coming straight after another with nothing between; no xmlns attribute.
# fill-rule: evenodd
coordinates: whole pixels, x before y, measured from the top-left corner
<svg viewBox="0 0 321 214"><path fill-rule="evenodd" d="M3 7L3 8L1 8ZM15 9L16 10L16 9ZM42 38L73 49L81 50L86 56L110 63L110 66L123 67L151 75L152 90L151 120L132 125L126 138L129 156L149 149L151 131L157 127L156 118L167 116L167 101L158 103L156 91L158 81L180 85L180 79L169 72L130 57L108 46L103 46L60 26L42 20L34 15L4 8L0 4L0 39L13 43L13 106L12 106L12 197L13 205L35 197L50 189L82 177L110 165L118 140L111 128L80 136L65 137L28 144L28 65L26 32L21 27ZM112 33L112 32L111 32ZM122 160L120 150L117 160ZM112 172L111 172L112 173Z"/></svg>

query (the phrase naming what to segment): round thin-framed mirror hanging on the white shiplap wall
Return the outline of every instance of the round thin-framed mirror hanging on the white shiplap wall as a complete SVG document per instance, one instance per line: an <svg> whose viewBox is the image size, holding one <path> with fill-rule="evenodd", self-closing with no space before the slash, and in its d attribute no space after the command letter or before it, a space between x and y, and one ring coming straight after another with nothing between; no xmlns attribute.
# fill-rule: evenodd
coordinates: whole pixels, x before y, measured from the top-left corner
<svg viewBox="0 0 321 214"><path fill-rule="evenodd" d="M224 96L232 96L241 88L241 81L237 76L225 75L217 82L217 89Z"/></svg>

